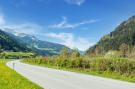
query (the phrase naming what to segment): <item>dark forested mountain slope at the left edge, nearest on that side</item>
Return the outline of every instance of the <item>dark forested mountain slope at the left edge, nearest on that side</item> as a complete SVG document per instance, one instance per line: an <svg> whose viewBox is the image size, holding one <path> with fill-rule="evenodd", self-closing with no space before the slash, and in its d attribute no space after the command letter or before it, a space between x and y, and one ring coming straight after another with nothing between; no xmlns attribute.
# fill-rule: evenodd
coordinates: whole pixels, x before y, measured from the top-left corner
<svg viewBox="0 0 135 89"><path fill-rule="evenodd" d="M26 46L18 43L13 37L0 30L0 51L30 51Z"/></svg>

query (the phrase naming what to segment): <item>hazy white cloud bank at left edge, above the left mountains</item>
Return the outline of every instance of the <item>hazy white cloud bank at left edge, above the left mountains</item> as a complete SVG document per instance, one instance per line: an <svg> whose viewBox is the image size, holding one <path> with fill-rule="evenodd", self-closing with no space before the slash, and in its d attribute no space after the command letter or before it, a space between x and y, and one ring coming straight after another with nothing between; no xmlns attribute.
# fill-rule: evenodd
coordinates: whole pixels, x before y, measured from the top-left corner
<svg viewBox="0 0 135 89"><path fill-rule="evenodd" d="M42 27L34 23L8 24L4 18L4 14L0 13L0 28L9 32L18 32L26 34L39 33Z"/></svg>

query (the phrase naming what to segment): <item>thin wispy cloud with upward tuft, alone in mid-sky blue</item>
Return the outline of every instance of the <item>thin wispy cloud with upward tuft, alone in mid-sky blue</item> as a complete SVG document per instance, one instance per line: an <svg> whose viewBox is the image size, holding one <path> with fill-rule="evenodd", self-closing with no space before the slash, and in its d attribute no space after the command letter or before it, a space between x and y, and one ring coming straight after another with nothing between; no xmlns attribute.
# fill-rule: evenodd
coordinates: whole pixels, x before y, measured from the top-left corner
<svg viewBox="0 0 135 89"><path fill-rule="evenodd" d="M49 27L57 28L57 29L76 28L76 27L79 27L81 25L95 23L96 21L97 20L85 20L85 21L81 21L81 22L78 22L78 23L69 23L67 21L67 18L63 17L63 20L60 23L50 25Z"/></svg>

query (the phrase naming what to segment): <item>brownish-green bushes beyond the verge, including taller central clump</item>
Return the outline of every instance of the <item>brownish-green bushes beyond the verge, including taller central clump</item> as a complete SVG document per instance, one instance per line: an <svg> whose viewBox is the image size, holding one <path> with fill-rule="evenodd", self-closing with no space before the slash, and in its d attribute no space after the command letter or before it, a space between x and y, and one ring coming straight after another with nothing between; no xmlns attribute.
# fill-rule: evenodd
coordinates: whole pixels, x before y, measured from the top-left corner
<svg viewBox="0 0 135 89"><path fill-rule="evenodd" d="M135 61L110 56L89 58L88 56L81 56L77 51L69 53L67 50L64 50L63 52L57 56L26 59L24 62L60 68L87 69L99 73L118 73L130 77L135 76Z"/></svg>

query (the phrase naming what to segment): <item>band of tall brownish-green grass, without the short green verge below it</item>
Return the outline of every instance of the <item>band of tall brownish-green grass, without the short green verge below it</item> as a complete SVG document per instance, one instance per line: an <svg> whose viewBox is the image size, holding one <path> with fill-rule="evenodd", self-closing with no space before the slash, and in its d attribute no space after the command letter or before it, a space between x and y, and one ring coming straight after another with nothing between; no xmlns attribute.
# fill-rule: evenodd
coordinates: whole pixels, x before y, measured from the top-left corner
<svg viewBox="0 0 135 89"><path fill-rule="evenodd" d="M71 60L59 59L57 57L44 57L25 59L24 62L67 68L83 68L92 71L111 71L120 73L121 75L135 76L135 62L125 58L95 58L92 60L78 58L76 60Z"/></svg>

